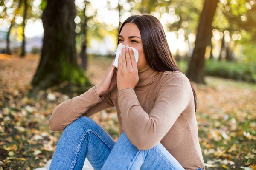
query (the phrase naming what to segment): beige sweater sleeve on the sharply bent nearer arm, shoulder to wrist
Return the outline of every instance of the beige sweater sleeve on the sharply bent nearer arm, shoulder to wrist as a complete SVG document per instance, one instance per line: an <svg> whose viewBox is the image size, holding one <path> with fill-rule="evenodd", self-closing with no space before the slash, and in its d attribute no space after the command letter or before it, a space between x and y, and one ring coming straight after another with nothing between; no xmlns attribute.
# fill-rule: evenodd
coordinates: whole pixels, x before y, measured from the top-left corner
<svg viewBox="0 0 256 170"><path fill-rule="evenodd" d="M139 150L151 149L160 142L188 105L190 89L189 79L184 74L170 74L161 83L150 113L140 106L134 89L118 91L123 130L130 142Z"/></svg>

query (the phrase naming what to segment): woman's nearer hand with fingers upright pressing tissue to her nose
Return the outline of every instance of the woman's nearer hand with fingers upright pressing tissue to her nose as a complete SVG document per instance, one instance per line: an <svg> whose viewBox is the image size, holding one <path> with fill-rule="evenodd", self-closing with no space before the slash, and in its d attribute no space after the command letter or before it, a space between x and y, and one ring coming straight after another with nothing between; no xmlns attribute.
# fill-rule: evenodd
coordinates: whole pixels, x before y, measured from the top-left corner
<svg viewBox="0 0 256 170"><path fill-rule="evenodd" d="M122 88L134 89L139 82L137 63L131 48L125 47L122 49L122 53L118 58L116 76L118 91Z"/></svg>

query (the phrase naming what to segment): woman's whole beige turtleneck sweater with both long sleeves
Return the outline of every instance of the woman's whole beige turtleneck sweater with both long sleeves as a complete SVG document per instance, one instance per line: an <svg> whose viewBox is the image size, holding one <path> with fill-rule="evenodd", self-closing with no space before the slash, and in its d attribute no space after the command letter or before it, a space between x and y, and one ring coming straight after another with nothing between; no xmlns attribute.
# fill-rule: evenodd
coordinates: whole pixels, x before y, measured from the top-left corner
<svg viewBox="0 0 256 170"><path fill-rule="evenodd" d="M100 97L93 86L62 102L49 119L50 129L63 131L80 116L90 117L115 106L119 133L125 131L139 150L151 149L160 142L186 170L205 170L189 79L180 71L158 72L150 67L138 74L134 89L118 91L116 87Z"/></svg>

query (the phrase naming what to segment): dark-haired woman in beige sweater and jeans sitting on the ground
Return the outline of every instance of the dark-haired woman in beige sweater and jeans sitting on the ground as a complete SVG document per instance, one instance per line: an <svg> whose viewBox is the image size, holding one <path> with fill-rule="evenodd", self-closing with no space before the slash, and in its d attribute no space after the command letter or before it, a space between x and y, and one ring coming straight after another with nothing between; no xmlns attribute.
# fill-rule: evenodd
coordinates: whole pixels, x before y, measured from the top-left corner
<svg viewBox="0 0 256 170"><path fill-rule="evenodd" d="M84 94L58 105L49 119L63 131L50 169L78 170L85 157L99 170L202 170L196 94L169 50L156 17L134 15L122 24L118 44L132 50L119 55L104 79ZM116 107L119 139L115 142L89 117Z"/></svg>

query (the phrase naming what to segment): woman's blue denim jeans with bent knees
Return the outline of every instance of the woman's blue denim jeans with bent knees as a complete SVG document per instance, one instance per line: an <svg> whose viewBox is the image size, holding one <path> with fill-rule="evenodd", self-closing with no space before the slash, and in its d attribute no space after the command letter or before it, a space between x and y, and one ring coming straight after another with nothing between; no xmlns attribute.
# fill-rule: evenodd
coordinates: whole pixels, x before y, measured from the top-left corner
<svg viewBox="0 0 256 170"><path fill-rule="evenodd" d="M93 119L81 116L62 133L49 170L81 170L85 157L95 170L184 170L160 142L138 150L125 132L115 142Z"/></svg>

